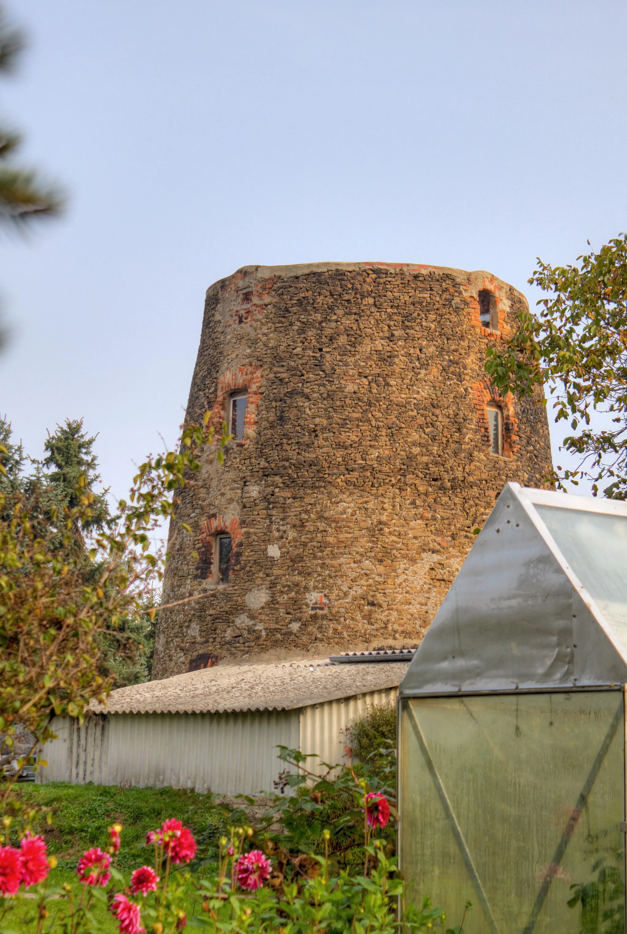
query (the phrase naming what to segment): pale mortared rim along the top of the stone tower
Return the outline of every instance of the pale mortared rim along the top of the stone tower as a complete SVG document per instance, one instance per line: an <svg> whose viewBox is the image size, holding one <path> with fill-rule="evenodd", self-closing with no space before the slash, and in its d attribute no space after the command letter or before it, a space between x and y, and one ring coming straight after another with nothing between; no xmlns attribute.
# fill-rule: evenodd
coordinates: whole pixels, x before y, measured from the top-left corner
<svg viewBox="0 0 627 934"><path fill-rule="evenodd" d="M463 278L467 281L478 280L480 283L482 283L483 280L486 280L487 283L494 282L495 285L498 284L499 286L509 286L509 283L505 282L504 279L501 279L498 276L495 276L494 273L490 273L484 269L474 269L468 271L466 269L455 269L453 266L436 266L429 262L298 262L291 265L281 266L241 266L240 269L237 269L230 276L224 276L223 278L218 279L211 286L209 286L207 291L219 288L222 283L229 282L231 279L240 279L244 281L247 278L265 279L271 278L272 276L288 278L289 276L306 276L309 273L326 273L332 272L333 270L345 270L346 272L359 272L361 270L367 270L371 272L376 272L377 270L390 270L391 272L407 273L433 272L442 276L448 275L455 278ZM515 289L516 287L509 286L509 288Z"/></svg>

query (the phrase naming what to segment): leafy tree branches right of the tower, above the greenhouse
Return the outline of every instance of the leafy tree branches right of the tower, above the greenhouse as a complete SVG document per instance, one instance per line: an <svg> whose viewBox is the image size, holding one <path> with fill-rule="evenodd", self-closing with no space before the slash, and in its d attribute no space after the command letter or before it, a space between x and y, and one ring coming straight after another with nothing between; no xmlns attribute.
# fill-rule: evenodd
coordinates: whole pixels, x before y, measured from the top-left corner
<svg viewBox="0 0 627 934"><path fill-rule="evenodd" d="M553 480L627 498L627 234L569 266L538 259L529 279L548 293L537 313L518 314L502 347L488 347L485 369L502 393L531 395L546 386L554 395L555 421L571 432L564 450L576 469L558 465ZM600 417L597 426L592 417ZM605 485L605 486L604 486Z"/></svg>

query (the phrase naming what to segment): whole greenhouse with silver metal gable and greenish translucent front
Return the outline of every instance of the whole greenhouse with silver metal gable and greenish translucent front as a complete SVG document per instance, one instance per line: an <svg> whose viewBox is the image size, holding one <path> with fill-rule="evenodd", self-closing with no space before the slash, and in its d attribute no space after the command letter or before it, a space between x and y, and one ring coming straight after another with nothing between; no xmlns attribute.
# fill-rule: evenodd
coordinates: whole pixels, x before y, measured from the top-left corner
<svg viewBox="0 0 627 934"><path fill-rule="evenodd" d="M508 484L399 688L410 898L623 932L626 684L627 503Z"/></svg>

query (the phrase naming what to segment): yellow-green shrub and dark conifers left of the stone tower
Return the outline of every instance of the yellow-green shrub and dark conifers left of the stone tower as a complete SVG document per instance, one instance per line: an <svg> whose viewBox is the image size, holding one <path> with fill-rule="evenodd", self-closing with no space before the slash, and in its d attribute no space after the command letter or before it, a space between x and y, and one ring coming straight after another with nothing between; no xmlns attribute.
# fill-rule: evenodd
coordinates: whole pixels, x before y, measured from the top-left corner
<svg viewBox="0 0 627 934"><path fill-rule="evenodd" d="M33 736L18 769L0 782L2 816L19 817L14 781L39 743L52 735L51 715L82 719L92 700L105 701L115 682L103 650L133 658L132 626L157 613L150 605L163 573L164 554L151 548L153 532L174 521L177 490L194 482L203 460L222 461L226 425L215 437L207 413L186 425L177 452L143 463L128 500L109 517L97 479L92 438L67 422L49 438L48 458L22 475L21 446L5 423L0 445L0 734L10 751L17 729ZM72 484L77 480L76 487ZM187 532L187 527L174 526ZM202 593L200 594L202 596Z"/></svg>

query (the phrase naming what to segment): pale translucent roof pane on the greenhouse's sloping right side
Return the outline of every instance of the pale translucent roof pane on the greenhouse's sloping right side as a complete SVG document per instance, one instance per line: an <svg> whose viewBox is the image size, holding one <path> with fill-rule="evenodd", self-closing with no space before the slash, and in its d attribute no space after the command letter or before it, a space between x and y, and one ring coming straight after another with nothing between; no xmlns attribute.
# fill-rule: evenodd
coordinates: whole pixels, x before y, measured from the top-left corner
<svg viewBox="0 0 627 934"><path fill-rule="evenodd" d="M536 510L627 649L627 517L560 506Z"/></svg>

